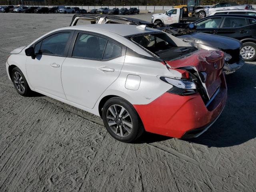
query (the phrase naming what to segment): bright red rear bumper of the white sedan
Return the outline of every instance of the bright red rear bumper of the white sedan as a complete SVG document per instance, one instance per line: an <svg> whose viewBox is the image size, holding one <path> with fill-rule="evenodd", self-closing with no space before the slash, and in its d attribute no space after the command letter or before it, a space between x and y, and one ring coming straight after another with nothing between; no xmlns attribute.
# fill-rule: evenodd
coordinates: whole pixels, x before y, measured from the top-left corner
<svg viewBox="0 0 256 192"><path fill-rule="evenodd" d="M146 105L134 105L147 132L181 138L191 129L200 128L212 122L226 104L227 89L222 74L221 90L206 108L199 93L190 96L164 93Z"/></svg>

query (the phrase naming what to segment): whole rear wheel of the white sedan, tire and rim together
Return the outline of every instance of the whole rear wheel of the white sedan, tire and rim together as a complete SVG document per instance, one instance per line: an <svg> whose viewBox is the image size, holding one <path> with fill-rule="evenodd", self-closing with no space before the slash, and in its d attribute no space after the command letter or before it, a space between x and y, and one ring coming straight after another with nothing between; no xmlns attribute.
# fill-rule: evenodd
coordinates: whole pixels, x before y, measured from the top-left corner
<svg viewBox="0 0 256 192"><path fill-rule="evenodd" d="M122 116L118 117L119 115L114 112L115 118L111 110L112 112L116 110L119 115L123 110ZM102 109L102 119L108 133L121 142L133 142L144 132L142 121L135 108L127 100L120 97L113 97L107 100ZM109 125L109 123L113 124L113 126Z"/></svg>

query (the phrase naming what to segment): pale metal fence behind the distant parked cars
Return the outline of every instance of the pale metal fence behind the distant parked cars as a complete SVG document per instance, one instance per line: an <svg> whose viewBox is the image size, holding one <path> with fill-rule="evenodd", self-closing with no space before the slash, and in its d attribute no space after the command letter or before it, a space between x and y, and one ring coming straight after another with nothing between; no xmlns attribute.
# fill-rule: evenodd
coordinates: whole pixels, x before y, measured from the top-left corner
<svg viewBox="0 0 256 192"><path fill-rule="evenodd" d="M29 6L29 5L27 5ZM36 5L34 5L36 6ZM68 6L68 5L67 5ZM52 7L52 6L46 6L46 7ZM70 7L72 7L70 5ZM174 6L76 6L76 7L79 7L80 9L86 9L86 10L92 10L92 9L99 9L101 7L108 7L109 9L113 9L113 8L131 8L131 7L136 7L138 9L140 9L140 11L142 12L151 12L151 13L154 13L154 12L161 12L161 11L167 11L167 10L170 10L172 9ZM256 9L256 5L252 5L252 7L254 9Z"/></svg>

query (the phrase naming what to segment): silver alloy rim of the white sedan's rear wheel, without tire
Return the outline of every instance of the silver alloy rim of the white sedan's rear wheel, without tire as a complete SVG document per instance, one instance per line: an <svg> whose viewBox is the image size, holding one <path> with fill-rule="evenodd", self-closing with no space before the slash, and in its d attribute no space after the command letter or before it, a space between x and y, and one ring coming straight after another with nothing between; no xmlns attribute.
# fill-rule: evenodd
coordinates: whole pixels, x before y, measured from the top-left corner
<svg viewBox="0 0 256 192"><path fill-rule="evenodd" d="M132 118L124 107L120 105L110 106L106 118L110 129L116 135L126 137L132 132Z"/></svg>

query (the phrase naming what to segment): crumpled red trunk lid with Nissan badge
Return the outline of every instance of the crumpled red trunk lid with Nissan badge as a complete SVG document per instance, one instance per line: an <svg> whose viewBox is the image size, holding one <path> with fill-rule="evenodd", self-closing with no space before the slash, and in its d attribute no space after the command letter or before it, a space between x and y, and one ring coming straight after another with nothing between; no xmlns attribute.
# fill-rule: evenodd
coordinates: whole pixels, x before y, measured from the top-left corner
<svg viewBox="0 0 256 192"><path fill-rule="evenodd" d="M166 61L166 63L172 68L194 69L200 77L209 99L220 87L222 68L224 67L224 53L221 51L201 49L189 56ZM206 72L205 80L202 79L201 72Z"/></svg>

